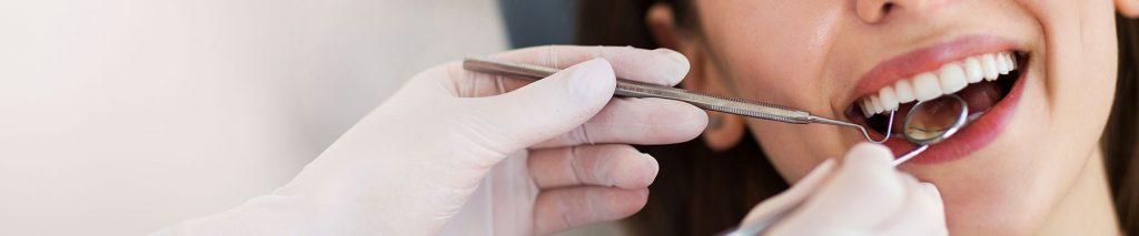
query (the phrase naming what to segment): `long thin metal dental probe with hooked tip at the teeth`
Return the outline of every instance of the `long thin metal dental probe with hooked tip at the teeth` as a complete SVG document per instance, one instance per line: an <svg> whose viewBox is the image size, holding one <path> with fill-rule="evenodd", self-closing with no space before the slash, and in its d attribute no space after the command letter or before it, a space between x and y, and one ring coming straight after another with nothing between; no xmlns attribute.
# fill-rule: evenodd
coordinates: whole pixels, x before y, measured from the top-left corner
<svg viewBox="0 0 1139 236"><path fill-rule="evenodd" d="M509 61L500 61L485 58L466 58L462 61L462 68L472 71L498 74L515 76L528 79L541 79L554 75L560 69L541 67L526 64L515 64ZM663 85L649 84L644 82L630 81L624 78L617 78L617 87L614 95L628 96L628 98L659 98L677 100L682 102L688 102L704 110L720 111L724 113L739 115L745 117L754 117L767 120L782 121L788 124L826 124L836 125L843 127L857 128L862 132L862 136L871 143L884 143L890 140L890 133L893 128L894 112L890 112L890 125L887 125L887 130L882 141L875 141L870 138L870 133L866 127L846 123L842 120L830 119L826 117L819 117L811 115L806 111L794 110L777 104L769 104L756 101L748 101L736 98L727 98L720 95L703 94L697 92L691 92L687 90L669 87Z"/></svg>

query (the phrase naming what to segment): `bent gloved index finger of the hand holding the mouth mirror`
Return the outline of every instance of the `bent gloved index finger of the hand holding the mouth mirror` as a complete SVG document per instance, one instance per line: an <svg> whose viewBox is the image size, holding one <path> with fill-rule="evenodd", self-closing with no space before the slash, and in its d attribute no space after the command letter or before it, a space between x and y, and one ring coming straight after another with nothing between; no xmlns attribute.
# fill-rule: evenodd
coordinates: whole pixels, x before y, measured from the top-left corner
<svg viewBox="0 0 1139 236"><path fill-rule="evenodd" d="M893 154L878 144L862 143L846 154L829 182L772 230L784 225L810 230L872 230L901 208L902 177L891 165ZM826 228L811 228L826 225ZM827 233L820 233L827 234Z"/></svg>

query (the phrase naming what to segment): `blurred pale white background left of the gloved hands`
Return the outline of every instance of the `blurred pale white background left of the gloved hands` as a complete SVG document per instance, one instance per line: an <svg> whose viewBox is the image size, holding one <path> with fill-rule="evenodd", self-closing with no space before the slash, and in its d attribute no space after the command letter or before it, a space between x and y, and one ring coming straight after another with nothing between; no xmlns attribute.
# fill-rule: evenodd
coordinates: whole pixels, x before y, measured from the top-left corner
<svg viewBox="0 0 1139 236"><path fill-rule="evenodd" d="M0 1L0 235L139 235L288 182L492 0Z"/></svg>

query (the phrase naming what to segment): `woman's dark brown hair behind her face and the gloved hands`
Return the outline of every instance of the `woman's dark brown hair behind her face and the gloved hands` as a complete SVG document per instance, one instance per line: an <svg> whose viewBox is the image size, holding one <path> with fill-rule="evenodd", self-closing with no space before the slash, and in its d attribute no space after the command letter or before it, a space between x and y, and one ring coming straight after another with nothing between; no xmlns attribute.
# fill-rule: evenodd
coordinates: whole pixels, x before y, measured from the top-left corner
<svg viewBox="0 0 1139 236"><path fill-rule="evenodd" d="M581 0L577 41L589 45L659 48L645 14L654 3L673 7L681 27L698 27L691 0ZM1101 138L1107 178L1123 231L1139 231L1139 162L1131 161L1139 142L1139 22L1116 16L1118 81L1106 130ZM699 138L666 146L639 146L661 162L649 187L645 210L631 218L644 235L712 235L730 228L759 202L784 189L787 183L746 136L727 151L712 151ZM756 157L759 155L759 157Z"/></svg>

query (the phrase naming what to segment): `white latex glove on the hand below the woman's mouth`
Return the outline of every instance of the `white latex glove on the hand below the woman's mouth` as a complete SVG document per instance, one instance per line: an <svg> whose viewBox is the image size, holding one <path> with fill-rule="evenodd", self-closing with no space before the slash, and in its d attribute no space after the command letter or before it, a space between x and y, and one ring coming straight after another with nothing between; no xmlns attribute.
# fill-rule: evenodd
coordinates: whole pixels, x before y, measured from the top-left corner
<svg viewBox="0 0 1139 236"><path fill-rule="evenodd" d="M937 187L894 169L892 159L885 146L855 145L841 167L822 162L790 189L753 208L743 225L805 199L765 235L948 235Z"/></svg>

